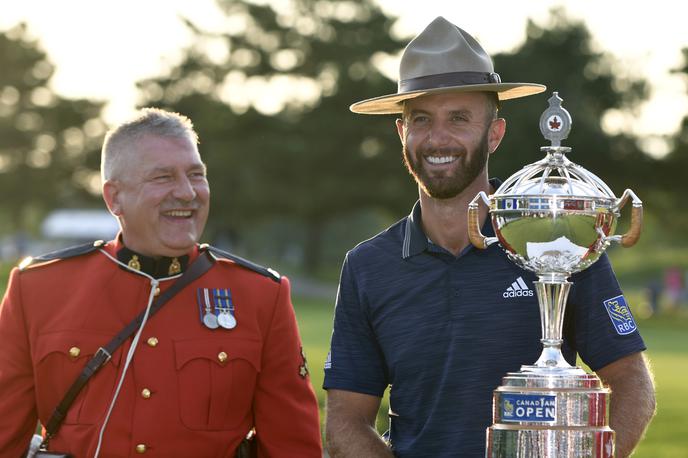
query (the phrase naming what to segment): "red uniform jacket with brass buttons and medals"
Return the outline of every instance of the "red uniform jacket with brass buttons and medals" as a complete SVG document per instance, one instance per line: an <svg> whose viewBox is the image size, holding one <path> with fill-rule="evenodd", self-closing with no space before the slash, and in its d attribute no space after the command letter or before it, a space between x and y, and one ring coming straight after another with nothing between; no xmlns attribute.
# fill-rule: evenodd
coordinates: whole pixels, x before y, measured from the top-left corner
<svg viewBox="0 0 688 458"><path fill-rule="evenodd" d="M104 247L113 255L117 248ZM203 325L199 288L231 291L234 329ZM37 418L46 424L86 361L144 310L150 291L149 279L97 250L12 272L0 305L0 456L20 456ZM51 450L93 456L130 344L88 382ZM259 456L320 458L306 372L289 281L219 259L146 323L100 457L232 457L255 426Z"/></svg>

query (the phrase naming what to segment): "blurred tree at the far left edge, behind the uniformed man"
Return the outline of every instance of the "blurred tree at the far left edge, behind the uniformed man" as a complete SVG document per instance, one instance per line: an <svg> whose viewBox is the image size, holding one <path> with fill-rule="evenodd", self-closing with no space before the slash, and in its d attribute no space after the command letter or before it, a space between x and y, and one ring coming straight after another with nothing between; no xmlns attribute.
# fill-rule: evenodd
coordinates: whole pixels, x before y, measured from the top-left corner
<svg viewBox="0 0 688 458"><path fill-rule="evenodd" d="M0 33L0 68L0 231L23 232L98 194L102 103L57 95L54 65L24 25Z"/></svg>

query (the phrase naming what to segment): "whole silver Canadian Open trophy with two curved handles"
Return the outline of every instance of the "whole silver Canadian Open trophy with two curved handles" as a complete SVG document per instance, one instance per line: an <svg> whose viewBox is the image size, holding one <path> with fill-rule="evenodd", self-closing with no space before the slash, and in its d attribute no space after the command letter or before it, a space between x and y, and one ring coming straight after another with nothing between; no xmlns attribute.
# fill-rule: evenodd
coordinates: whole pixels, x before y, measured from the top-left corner
<svg viewBox="0 0 688 458"><path fill-rule="evenodd" d="M571 116L555 92L540 118L551 142L544 159L525 166L487 196L479 193L468 208L471 243L487 248L499 242L509 258L535 272L542 345L532 365L508 373L494 391L493 424L487 429L486 456L612 457L609 395L597 375L571 366L561 353L567 278L597 261L611 242L634 245L643 207L627 189L620 199L594 174L566 158L561 141ZM480 232L479 201L489 207L496 237ZM622 207L633 209L628 232L614 235ZM620 313L628 313L625 308Z"/></svg>

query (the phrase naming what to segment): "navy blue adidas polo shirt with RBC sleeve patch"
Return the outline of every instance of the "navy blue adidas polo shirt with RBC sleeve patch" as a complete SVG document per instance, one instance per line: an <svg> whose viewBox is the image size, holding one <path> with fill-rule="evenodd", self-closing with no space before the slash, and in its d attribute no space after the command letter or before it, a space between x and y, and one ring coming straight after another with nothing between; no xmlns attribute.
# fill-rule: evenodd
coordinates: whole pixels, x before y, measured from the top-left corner
<svg viewBox="0 0 688 458"><path fill-rule="evenodd" d="M482 230L494 235L489 220ZM323 387L381 397L389 386L396 456L485 456L492 390L542 351L536 279L498 244L459 256L433 244L416 203L347 253ZM578 353L596 370L645 349L606 255L571 281L570 363Z"/></svg>

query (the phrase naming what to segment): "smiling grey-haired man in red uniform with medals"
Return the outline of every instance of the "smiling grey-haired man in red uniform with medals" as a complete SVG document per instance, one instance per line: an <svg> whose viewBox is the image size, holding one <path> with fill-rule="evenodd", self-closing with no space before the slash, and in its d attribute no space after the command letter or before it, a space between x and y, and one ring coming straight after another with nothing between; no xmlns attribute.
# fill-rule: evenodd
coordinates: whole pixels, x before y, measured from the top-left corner
<svg viewBox="0 0 688 458"><path fill-rule="evenodd" d="M322 456L289 281L197 244L210 197L197 142L187 118L156 109L109 132L103 197L120 234L12 272L0 306L1 456L24 453L86 361L206 250L210 270L88 381L50 450L233 457L255 428L258 456Z"/></svg>

